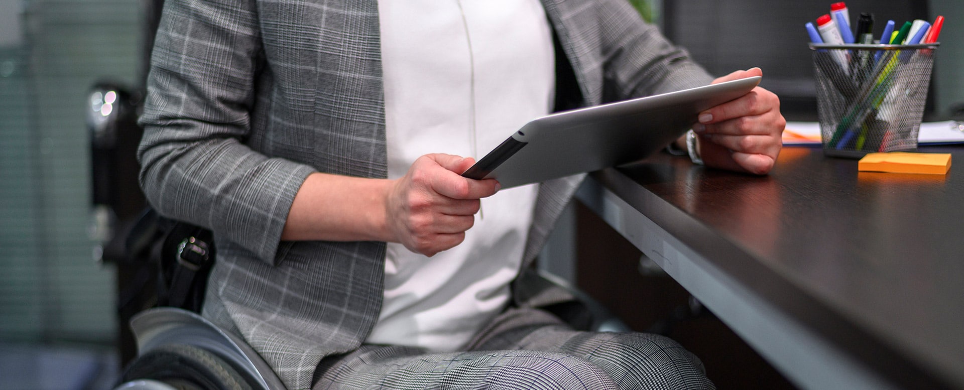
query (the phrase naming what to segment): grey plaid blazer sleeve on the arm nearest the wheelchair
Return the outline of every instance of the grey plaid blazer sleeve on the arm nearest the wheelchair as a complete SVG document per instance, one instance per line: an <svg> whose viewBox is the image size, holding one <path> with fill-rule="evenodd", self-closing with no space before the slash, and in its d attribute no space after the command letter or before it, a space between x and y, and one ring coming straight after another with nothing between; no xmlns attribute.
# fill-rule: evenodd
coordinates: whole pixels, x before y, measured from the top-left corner
<svg viewBox="0 0 964 390"><path fill-rule="evenodd" d="M150 204L274 264L281 230L314 169L269 158L252 132L263 56L254 0L168 0L160 20L138 148Z"/></svg>

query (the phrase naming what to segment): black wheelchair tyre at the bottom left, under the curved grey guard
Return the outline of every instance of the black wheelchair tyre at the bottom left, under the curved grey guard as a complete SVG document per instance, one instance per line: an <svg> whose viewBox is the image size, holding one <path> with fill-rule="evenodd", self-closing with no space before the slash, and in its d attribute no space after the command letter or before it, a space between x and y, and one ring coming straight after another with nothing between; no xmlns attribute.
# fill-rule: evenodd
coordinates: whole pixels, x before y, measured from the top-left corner
<svg viewBox="0 0 964 390"><path fill-rule="evenodd" d="M248 380L216 354L188 345L158 347L138 356L120 382L154 379L179 390L251 390Z"/></svg>

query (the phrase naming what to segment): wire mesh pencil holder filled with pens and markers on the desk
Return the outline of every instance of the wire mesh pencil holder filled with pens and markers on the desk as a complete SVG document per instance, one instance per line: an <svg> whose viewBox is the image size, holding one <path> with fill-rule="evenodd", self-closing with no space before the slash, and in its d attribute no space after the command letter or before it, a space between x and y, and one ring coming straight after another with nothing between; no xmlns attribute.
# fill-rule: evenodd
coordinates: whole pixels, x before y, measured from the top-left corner
<svg viewBox="0 0 964 390"><path fill-rule="evenodd" d="M823 153L916 150L937 46L811 43Z"/></svg>

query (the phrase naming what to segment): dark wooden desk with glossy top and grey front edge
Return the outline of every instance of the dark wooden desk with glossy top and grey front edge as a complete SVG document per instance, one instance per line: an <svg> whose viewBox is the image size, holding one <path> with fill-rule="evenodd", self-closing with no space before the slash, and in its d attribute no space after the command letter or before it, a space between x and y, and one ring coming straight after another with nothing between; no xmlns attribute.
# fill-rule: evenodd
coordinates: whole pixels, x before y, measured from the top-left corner
<svg viewBox="0 0 964 390"><path fill-rule="evenodd" d="M802 388L964 388L964 147L949 174L787 147L767 176L660 154L578 197Z"/></svg>

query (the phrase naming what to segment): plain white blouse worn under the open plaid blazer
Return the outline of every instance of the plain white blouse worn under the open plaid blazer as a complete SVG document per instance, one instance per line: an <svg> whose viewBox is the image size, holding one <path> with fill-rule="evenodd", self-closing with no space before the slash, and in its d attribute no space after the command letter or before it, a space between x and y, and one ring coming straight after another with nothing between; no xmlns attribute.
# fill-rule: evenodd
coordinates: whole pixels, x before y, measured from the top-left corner
<svg viewBox="0 0 964 390"><path fill-rule="evenodd" d="M552 33L538 0L379 0L388 177L428 153L481 158L549 114ZM538 187L502 190L457 247L388 244L385 300L367 343L457 351L509 302Z"/></svg>

